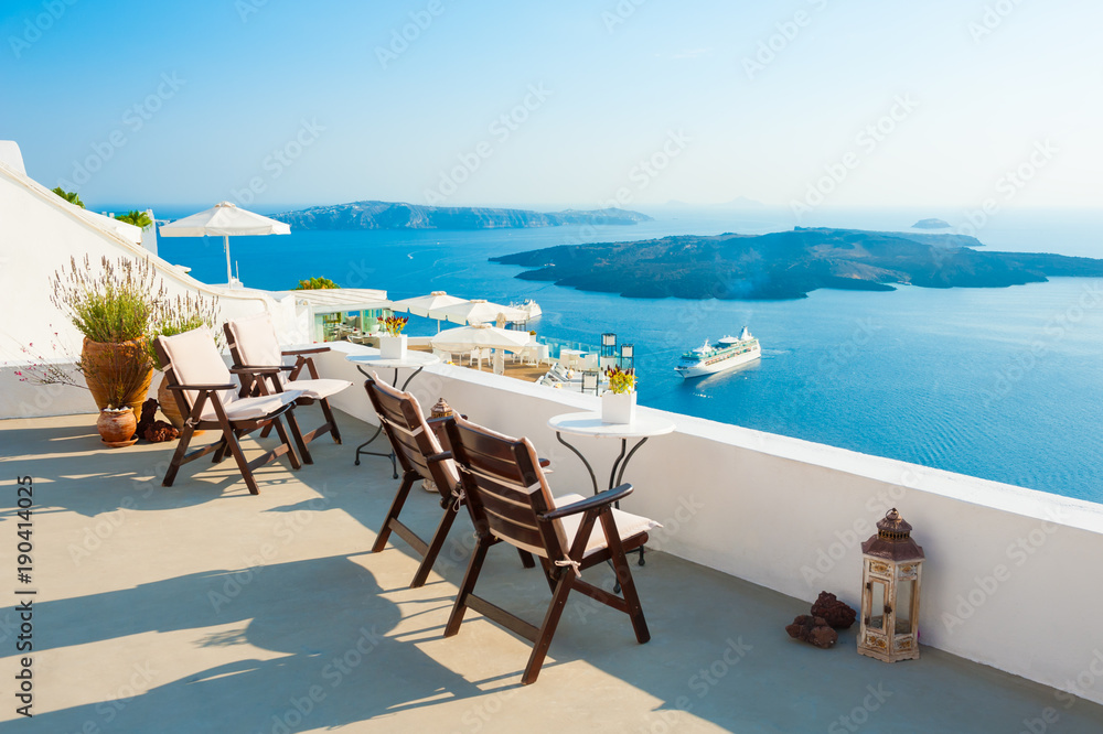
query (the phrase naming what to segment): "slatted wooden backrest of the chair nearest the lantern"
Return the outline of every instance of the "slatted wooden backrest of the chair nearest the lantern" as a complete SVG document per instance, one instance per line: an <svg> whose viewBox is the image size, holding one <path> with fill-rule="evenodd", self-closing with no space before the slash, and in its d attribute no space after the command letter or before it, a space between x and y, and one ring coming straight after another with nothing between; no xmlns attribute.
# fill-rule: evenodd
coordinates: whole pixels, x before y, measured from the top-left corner
<svg viewBox="0 0 1103 734"><path fill-rule="evenodd" d="M564 558L563 523L538 519L555 504L528 439L513 439L459 415L447 431L475 527L536 555Z"/></svg>

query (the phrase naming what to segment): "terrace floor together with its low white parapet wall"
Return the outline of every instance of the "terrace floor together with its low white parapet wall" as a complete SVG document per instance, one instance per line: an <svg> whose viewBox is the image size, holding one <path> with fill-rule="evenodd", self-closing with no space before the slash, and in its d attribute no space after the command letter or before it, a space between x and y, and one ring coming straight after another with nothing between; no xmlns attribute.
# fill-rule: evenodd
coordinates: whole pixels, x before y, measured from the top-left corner
<svg viewBox="0 0 1103 734"><path fill-rule="evenodd" d="M364 349L336 345L323 374L356 378L343 350ZM597 398L447 365L415 388L422 404L446 396L472 420L529 435L557 494L589 489L546 422ZM401 540L370 552L397 482L385 460L353 465L374 430L360 380L338 404L344 443L315 442L315 464L298 472L258 471L256 497L231 462L189 465L161 487L172 444L104 450L88 415L0 422L0 463L35 487L29 731L1103 727L1100 592L1075 581L1103 546L1085 504L1059 509L1039 493L666 414L677 431L642 449L627 477L625 508L665 526L634 568L652 640L638 645L622 615L575 598L540 679L522 687L525 641L470 612L457 637L442 635L471 549L465 517L422 589L407 587L418 558ZM612 456L587 450L599 464ZM986 503L996 490L1004 507ZM885 503L928 555L922 657L860 657L856 627L831 650L790 639L784 626L821 589L857 606L856 528ZM404 518L428 535L439 512L416 490ZM1031 551L1021 565L1006 560L1016 538ZM495 551L485 595L538 619L543 576ZM1010 575L989 589L1002 558ZM587 575L612 583L604 566ZM11 637L14 613L3 614Z"/></svg>

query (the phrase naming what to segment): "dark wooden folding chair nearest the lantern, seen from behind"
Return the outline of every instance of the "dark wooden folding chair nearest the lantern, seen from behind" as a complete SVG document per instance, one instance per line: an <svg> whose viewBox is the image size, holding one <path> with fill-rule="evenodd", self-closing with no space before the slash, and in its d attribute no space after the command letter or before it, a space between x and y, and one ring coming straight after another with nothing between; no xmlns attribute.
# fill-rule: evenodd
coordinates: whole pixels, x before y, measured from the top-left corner
<svg viewBox="0 0 1103 734"><path fill-rule="evenodd" d="M628 614L641 644L651 639L624 553L643 546L647 531L658 523L613 509L613 503L632 493L632 485L622 484L588 498L566 495L553 499L536 450L527 439L511 439L462 418L449 419L445 427L478 537L445 636L460 632L469 607L479 612L533 643L521 679L524 684L533 683L540 673L567 597L578 590ZM503 541L537 555L547 576L552 603L538 628L474 594L486 551ZM623 596L582 581L583 570L607 561L613 566Z"/></svg>

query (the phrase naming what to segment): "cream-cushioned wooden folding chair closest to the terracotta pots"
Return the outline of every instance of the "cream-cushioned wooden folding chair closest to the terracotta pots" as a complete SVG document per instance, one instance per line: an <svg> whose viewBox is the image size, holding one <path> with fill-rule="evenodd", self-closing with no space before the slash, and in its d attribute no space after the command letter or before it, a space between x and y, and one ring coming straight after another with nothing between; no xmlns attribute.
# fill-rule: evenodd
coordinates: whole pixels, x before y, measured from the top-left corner
<svg viewBox="0 0 1103 734"><path fill-rule="evenodd" d="M161 482L163 486L172 486L182 465L211 452L214 452L216 464L222 462L227 453L232 454L242 471L249 494L254 495L260 494L253 477L253 469L256 467L287 454L291 468L300 468L299 457L296 456L288 431L280 420L280 418L287 419L291 438L297 444L302 445L302 435L291 412L296 399L301 395L298 390L251 398L240 397L239 388L231 375L244 374L244 370L226 368L222 355L218 354L218 347L215 346L214 335L206 326L176 336L159 336L153 343L153 348L164 365L169 390L174 395L181 414L186 415L176 451L172 454L169 471ZM256 379L255 370L250 371L253 379ZM280 445L247 462L238 440L257 429L268 427L276 428ZM221 430L222 439L188 453L188 445L195 431L208 430Z"/></svg>

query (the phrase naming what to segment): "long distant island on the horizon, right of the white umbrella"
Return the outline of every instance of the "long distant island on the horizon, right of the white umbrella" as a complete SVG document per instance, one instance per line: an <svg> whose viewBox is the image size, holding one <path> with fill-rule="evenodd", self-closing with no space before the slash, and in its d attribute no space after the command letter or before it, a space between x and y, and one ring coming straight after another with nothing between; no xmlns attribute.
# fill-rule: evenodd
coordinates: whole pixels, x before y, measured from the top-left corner
<svg viewBox="0 0 1103 734"><path fill-rule="evenodd" d="M633 225L651 217L628 209L531 212L400 202L351 202L269 215L296 229L507 229L564 225Z"/></svg>

